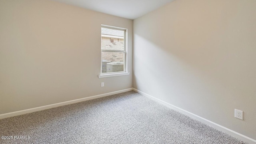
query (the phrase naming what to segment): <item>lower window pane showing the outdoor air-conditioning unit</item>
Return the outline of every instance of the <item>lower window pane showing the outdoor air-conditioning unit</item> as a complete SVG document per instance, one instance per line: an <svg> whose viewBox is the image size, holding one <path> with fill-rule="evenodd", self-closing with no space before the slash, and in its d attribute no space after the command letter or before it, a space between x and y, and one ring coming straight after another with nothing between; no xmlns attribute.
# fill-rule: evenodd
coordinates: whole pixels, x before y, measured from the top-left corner
<svg viewBox="0 0 256 144"><path fill-rule="evenodd" d="M124 52L102 52L102 73L123 72Z"/></svg>

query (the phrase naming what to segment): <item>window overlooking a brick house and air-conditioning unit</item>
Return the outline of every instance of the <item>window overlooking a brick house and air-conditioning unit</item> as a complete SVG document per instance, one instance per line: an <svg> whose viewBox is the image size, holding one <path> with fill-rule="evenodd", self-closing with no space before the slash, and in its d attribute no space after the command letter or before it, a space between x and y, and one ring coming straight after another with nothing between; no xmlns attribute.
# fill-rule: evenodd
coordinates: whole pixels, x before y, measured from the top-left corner
<svg viewBox="0 0 256 144"><path fill-rule="evenodd" d="M101 74L124 72L126 72L126 29L102 26Z"/></svg>

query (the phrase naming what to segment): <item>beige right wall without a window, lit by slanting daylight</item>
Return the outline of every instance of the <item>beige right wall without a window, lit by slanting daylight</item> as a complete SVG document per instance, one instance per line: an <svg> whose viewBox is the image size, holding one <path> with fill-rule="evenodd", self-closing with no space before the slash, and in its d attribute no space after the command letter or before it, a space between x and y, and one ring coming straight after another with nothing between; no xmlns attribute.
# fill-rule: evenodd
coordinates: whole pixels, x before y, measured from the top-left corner
<svg viewBox="0 0 256 144"><path fill-rule="evenodd" d="M176 0L146 14L133 60L134 88L256 139L256 0Z"/></svg>

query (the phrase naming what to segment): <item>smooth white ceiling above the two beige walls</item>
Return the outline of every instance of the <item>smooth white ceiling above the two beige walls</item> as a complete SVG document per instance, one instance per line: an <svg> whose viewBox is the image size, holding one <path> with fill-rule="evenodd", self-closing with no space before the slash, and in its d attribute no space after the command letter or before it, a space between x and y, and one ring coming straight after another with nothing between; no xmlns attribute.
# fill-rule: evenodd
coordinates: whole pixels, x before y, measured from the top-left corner
<svg viewBox="0 0 256 144"><path fill-rule="evenodd" d="M54 1L134 20L174 0L54 0Z"/></svg>

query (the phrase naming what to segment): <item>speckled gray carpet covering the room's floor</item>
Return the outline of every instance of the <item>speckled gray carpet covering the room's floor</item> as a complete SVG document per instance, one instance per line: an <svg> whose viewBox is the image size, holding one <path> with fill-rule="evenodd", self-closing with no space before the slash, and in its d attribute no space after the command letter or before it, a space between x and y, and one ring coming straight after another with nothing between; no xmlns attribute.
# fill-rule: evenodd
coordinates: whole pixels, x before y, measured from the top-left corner
<svg viewBox="0 0 256 144"><path fill-rule="evenodd" d="M245 144L134 91L2 119L0 136L13 136L1 144Z"/></svg>

